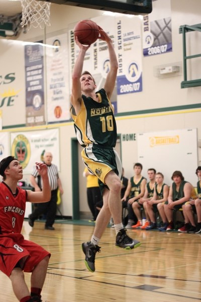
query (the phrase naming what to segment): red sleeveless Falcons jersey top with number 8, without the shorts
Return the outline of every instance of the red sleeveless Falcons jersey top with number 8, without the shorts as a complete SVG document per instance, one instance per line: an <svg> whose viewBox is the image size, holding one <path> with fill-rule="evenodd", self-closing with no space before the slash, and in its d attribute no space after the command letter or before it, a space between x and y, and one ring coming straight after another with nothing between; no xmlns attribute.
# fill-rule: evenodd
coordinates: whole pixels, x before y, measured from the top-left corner
<svg viewBox="0 0 201 302"><path fill-rule="evenodd" d="M27 191L17 187L14 195L5 182L0 183L0 235L21 233Z"/></svg>

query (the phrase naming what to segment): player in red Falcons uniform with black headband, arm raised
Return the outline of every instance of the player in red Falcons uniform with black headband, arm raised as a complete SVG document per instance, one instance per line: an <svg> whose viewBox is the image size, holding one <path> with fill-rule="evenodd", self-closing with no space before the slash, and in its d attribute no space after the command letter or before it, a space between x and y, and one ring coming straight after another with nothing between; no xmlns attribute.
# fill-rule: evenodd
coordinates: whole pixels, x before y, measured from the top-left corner
<svg viewBox="0 0 201 302"><path fill-rule="evenodd" d="M0 162L0 270L12 282L13 291L20 302L41 302L50 253L41 246L25 240L21 234L26 201L47 202L51 197L47 166L36 163L43 180L43 191L33 192L17 187L23 177L20 162L12 156ZM24 272L31 272L31 291Z"/></svg>

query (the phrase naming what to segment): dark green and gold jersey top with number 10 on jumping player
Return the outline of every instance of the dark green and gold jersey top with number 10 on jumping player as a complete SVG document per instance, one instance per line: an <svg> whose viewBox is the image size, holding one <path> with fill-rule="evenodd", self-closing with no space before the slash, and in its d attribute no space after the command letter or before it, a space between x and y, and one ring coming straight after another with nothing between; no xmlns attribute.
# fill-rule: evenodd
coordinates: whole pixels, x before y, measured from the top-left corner
<svg viewBox="0 0 201 302"><path fill-rule="evenodd" d="M75 114L73 106L70 112L74 121L78 142L83 146L90 143L104 147L115 147L117 141L117 126L113 107L102 88L96 92L99 102L82 95L81 109Z"/></svg>

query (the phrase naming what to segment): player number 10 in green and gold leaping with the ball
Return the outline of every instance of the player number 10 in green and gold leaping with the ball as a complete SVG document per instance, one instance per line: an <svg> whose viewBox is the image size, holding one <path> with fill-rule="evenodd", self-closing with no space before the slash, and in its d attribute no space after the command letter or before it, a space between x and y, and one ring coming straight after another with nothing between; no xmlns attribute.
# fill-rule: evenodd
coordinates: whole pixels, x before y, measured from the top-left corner
<svg viewBox="0 0 201 302"><path fill-rule="evenodd" d="M122 223L122 164L114 149L117 127L110 102L117 77L118 61L111 38L101 28L99 39L106 41L110 57L110 71L104 88L96 92L92 75L88 71L82 72L85 53L90 45L82 45L75 37L79 54L72 72L70 109L77 140L84 147L81 152L83 162L87 169L98 177L103 192L104 205L97 216L94 233L89 242L82 243L85 264L91 272L95 271L95 254L100 252L98 243L111 216L115 223L116 246L133 249L141 244L126 234Z"/></svg>

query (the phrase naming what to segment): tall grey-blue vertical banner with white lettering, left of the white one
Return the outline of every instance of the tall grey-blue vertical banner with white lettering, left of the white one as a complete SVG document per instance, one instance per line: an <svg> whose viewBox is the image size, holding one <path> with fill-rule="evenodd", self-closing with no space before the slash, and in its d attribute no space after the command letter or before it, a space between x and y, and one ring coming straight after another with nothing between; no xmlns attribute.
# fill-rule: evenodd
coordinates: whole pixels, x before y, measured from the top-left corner
<svg viewBox="0 0 201 302"><path fill-rule="evenodd" d="M25 45L26 126L45 124L43 56L41 43Z"/></svg>

